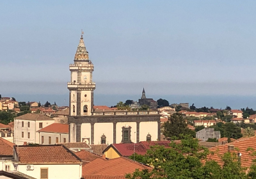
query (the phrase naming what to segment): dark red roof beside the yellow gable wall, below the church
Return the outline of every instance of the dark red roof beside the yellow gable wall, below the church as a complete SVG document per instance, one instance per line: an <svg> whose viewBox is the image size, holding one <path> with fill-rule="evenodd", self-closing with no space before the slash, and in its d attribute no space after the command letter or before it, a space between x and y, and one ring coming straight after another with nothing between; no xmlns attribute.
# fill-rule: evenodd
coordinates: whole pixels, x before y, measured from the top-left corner
<svg viewBox="0 0 256 179"><path fill-rule="evenodd" d="M168 147L170 144L170 141L143 141L140 143L121 143L121 144L111 144L108 146L108 148L113 147L116 152L118 152L121 156L129 157L134 153L134 146L135 146L135 152L140 155L145 155L147 153L147 150L150 149L150 146L154 145L163 145ZM106 150L108 150L106 148ZM105 152L105 150L104 150Z"/></svg>

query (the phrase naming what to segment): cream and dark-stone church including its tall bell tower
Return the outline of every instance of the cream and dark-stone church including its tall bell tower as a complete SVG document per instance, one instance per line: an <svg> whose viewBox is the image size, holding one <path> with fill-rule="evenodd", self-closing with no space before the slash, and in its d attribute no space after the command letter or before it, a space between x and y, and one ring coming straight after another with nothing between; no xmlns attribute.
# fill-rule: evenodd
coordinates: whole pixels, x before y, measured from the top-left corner
<svg viewBox="0 0 256 179"><path fill-rule="evenodd" d="M83 34L69 70L69 142L113 144L160 140L159 111L93 111L94 66Z"/></svg>

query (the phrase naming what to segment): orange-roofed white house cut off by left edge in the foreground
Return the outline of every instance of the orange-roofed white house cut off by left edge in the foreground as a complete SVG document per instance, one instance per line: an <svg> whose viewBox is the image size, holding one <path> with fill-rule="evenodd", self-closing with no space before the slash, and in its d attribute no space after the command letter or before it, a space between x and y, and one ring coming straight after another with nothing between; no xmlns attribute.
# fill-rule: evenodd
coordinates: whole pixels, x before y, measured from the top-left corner
<svg viewBox="0 0 256 179"><path fill-rule="evenodd" d="M12 163L14 144L0 137L0 169L4 171L13 171ZM1 176L0 176L1 178Z"/></svg>

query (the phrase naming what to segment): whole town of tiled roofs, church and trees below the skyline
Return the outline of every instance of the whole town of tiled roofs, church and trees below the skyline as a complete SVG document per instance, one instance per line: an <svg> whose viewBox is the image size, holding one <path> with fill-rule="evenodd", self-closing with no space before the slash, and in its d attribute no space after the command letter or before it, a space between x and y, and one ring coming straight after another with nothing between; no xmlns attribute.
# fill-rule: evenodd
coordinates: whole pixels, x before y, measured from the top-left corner
<svg viewBox="0 0 256 179"><path fill-rule="evenodd" d="M207 178L206 170L225 178L224 165L236 170L231 177L255 177L253 109L169 104L144 88L138 102L94 105L83 34L69 69L67 106L1 96L0 178L173 178L168 168L181 178ZM173 167L182 160L191 166Z"/></svg>

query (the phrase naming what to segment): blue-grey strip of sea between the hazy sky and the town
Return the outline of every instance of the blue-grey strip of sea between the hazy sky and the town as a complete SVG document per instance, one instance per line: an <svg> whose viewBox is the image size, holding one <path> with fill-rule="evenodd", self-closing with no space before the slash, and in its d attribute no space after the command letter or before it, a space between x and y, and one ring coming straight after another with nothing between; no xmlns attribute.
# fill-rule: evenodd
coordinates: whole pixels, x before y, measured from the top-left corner
<svg viewBox="0 0 256 179"><path fill-rule="evenodd" d="M15 97L17 101L22 102L41 102L45 104L46 101L57 105L68 105L68 94L63 95L47 95L47 94L3 94L2 97ZM94 94L94 105L107 105L109 107L116 105L116 103L125 100L138 101L139 95L103 95ZM157 100L163 98L168 100L170 104L188 102L189 106L195 104L196 107L214 107L218 109L225 109L228 105L232 109L253 108L256 110L256 96L253 95L147 95L147 98Z"/></svg>

